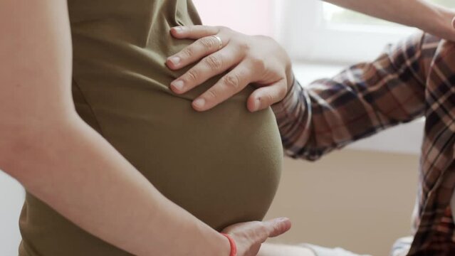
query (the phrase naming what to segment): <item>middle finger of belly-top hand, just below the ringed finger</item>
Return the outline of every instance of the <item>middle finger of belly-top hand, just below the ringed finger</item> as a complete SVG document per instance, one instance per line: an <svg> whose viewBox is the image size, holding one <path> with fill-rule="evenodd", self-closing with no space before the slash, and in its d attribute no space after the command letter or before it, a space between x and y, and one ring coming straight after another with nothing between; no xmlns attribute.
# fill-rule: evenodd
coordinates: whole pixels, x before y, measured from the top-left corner
<svg viewBox="0 0 455 256"><path fill-rule="evenodd" d="M197 65L184 73L181 77L171 82L171 89L176 93L184 93L201 85L206 80L219 75L239 63L241 55L235 48L223 48L213 53Z"/></svg>

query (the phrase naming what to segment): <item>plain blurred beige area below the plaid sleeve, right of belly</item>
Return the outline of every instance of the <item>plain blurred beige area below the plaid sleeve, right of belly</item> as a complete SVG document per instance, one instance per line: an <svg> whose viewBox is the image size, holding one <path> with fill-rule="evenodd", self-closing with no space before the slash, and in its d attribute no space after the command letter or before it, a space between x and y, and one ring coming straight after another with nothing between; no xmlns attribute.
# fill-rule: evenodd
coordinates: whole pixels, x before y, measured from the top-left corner
<svg viewBox="0 0 455 256"><path fill-rule="evenodd" d="M272 242L312 242L388 255L409 234L419 157L338 151L316 163L286 159L266 218L287 216L293 228Z"/></svg>

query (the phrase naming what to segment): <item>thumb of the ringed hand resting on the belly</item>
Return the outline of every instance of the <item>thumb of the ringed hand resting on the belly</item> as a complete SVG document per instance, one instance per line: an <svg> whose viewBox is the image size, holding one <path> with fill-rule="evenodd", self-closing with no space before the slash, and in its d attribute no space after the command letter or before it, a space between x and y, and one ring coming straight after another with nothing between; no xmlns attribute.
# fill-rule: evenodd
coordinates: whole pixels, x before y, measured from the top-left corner
<svg viewBox="0 0 455 256"><path fill-rule="evenodd" d="M288 85L285 79L279 80L273 85L268 85L266 87L260 87L251 93L248 98L246 106L251 112L256 112L259 110L264 110L267 107L280 102L286 97L288 92Z"/></svg>

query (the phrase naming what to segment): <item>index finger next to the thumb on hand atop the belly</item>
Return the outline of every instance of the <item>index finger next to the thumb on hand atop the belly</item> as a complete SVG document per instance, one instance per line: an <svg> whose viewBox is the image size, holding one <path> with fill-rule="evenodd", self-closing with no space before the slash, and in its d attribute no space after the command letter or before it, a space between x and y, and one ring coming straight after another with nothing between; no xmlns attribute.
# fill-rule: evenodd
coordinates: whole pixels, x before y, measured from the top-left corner
<svg viewBox="0 0 455 256"><path fill-rule="evenodd" d="M231 70L231 72L216 82L213 87L194 100L192 104L194 110L206 111L219 105L219 103L243 90L251 82L252 76L251 68L244 63L240 63L234 70Z"/></svg>

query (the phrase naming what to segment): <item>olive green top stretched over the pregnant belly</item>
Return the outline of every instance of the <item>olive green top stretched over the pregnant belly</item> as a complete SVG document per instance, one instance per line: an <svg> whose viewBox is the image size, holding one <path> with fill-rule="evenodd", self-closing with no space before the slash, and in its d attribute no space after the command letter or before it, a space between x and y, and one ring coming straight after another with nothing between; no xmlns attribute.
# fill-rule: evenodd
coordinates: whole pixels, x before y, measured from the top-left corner
<svg viewBox="0 0 455 256"><path fill-rule="evenodd" d="M169 90L183 71L169 70L166 58L192 43L172 38L169 28L201 23L192 2L68 0L68 9L73 97L85 122L164 196L216 230L261 220L283 156L271 110L246 110L251 87L209 112L192 110L192 100L219 77L187 95ZM29 193L20 228L22 256L130 255Z"/></svg>

